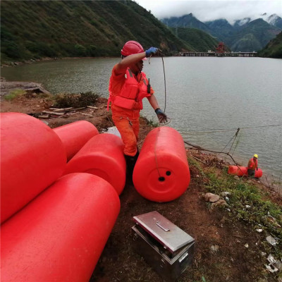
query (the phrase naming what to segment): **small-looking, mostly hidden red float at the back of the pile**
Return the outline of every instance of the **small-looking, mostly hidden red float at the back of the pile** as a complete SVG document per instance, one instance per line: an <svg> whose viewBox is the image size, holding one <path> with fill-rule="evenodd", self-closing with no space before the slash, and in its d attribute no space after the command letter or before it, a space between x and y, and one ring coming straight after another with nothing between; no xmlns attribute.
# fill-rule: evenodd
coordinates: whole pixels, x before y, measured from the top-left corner
<svg viewBox="0 0 282 282"><path fill-rule="evenodd" d="M88 140L99 134L97 128L89 121L75 121L74 123L59 126L54 128L54 132L63 142L68 161Z"/></svg>

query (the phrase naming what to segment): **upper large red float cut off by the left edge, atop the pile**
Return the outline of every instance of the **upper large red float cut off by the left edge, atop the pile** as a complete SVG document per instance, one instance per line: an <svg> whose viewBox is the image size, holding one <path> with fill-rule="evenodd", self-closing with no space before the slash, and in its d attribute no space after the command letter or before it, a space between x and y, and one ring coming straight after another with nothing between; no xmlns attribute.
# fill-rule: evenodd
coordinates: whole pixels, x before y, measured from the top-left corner
<svg viewBox="0 0 282 282"><path fill-rule="evenodd" d="M1 222L59 178L66 154L59 137L37 118L1 114Z"/></svg>

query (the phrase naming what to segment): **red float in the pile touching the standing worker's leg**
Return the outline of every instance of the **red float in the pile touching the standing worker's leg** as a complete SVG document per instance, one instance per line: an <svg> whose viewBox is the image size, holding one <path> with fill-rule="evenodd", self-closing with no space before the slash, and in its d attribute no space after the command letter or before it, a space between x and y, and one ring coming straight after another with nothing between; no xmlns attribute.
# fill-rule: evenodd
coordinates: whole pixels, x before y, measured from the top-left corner
<svg viewBox="0 0 282 282"><path fill-rule="evenodd" d="M126 165L120 137L103 133L92 137L68 162L64 174L91 173L104 178L121 194L125 185Z"/></svg>

